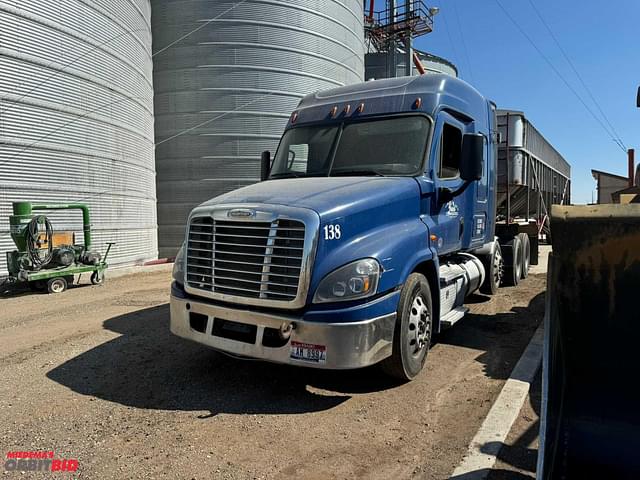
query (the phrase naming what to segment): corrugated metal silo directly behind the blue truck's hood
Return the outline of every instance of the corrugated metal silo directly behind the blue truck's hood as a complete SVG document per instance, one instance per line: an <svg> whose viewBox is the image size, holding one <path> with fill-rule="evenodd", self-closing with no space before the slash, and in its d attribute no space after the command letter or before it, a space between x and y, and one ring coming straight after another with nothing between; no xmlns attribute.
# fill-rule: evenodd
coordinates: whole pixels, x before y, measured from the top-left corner
<svg viewBox="0 0 640 480"><path fill-rule="evenodd" d="M360 0L153 0L160 256L195 205L259 178L313 91L362 81ZM176 39L182 39L178 43Z"/></svg>

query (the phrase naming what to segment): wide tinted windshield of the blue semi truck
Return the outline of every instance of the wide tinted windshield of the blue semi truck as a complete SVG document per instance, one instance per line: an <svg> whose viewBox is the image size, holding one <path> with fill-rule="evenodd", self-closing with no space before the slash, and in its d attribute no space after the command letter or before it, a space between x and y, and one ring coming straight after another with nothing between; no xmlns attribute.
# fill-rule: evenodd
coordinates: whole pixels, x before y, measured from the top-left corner
<svg viewBox="0 0 640 480"><path fill-rule="evenodd" d="M415 175L425 155L423 116L358 121L287 130L269 178L339 175Z"/></svg>

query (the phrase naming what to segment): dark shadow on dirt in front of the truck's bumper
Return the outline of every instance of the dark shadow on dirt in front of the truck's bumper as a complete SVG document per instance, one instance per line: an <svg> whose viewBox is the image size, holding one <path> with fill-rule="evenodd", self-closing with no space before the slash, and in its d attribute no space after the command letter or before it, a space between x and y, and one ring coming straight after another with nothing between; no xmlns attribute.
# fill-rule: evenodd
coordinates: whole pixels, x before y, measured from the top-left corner
<svg viewBox="0 0 640 480"><path fill-rule="evenodd" d="M397 385L377 368L323 371L237 360L169 332L169 306L107 320L122 334L78 355L47 377L83 395L147 409L236 414L322 411L348 393ZM317 390L310 391L308 386Z"/></svg>

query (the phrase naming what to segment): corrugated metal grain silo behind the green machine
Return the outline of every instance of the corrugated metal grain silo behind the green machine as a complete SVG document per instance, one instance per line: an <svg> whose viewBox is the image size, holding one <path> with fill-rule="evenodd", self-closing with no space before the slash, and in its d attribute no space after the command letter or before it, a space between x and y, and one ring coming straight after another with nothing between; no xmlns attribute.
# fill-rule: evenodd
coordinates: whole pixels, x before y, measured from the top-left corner
<svg viewBox="0 0 640 480"><path fill-rule="evenodd" d="M157 258L152 71L149 0L0 0L0 274L16 200L88 203L110 264Z"/></svg>

